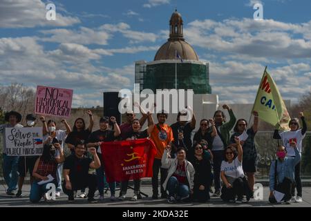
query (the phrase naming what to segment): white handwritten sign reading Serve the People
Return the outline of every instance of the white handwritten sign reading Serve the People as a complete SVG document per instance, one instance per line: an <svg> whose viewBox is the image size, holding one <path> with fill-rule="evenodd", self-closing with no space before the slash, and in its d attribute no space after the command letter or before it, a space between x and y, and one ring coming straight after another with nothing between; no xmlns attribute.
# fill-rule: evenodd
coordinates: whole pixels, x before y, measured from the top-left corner
<svg viewBox="0 0 311 221"><path fill-rule="evenodd" d="M43 152L42 128L6 128L6 154L33 156Z"/></svg>

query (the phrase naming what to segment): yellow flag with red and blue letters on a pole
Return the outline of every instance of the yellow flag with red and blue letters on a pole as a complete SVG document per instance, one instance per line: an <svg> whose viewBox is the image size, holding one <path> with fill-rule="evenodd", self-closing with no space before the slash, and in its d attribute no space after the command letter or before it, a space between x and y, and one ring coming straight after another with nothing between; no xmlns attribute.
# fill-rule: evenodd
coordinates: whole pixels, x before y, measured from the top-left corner
<svg viewBox="0 0 311 221"><path fill-rule="evenodd" d="M267 73L267 67L263 73L252 111L257 111L260 119L276 126L278 129L283 131L290 129L288 127L290 115L279 89L272 77Z"/></svg>

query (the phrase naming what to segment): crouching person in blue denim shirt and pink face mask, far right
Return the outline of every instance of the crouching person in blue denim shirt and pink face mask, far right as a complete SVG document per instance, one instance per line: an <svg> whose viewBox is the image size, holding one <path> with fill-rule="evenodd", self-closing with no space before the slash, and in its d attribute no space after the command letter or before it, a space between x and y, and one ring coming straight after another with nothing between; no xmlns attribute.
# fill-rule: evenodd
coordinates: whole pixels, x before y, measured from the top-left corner
<svg viewBox="0 0 311 221"><path fill-rule="evenodd" d="M282 201L290 204L295 166L301 161L301 153L296 142L292 141L290 148L294 151L295 157L287 157L287 149L284 146L279 146L276 152L277 159L270 166L270 203L276 203L274 191L279 191L284 194Z"/></svg>

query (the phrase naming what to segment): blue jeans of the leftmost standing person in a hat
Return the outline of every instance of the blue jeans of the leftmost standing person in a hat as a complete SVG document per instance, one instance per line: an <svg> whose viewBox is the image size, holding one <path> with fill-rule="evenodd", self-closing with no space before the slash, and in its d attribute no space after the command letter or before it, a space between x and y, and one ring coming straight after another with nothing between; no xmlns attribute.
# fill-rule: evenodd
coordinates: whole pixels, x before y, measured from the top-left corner
<svg viewBox="0 0 311 221"><path fill-rule="evenodd" d="M3 153L3 177L8 185L8 192L17 189L19 157L8 156Z"/></svg>

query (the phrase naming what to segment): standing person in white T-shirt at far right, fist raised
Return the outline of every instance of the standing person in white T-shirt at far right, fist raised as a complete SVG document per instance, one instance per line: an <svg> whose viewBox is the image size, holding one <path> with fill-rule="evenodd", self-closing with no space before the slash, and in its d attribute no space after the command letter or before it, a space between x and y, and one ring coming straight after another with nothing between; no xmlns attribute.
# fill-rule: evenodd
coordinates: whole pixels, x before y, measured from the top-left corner
<svg viewBox="0 0 311 221"><path fill-rule="evenodd" d="M302 128L299 125L299 119L293 118L290 120L288 126L290 126L290 131L284 131L279 133L278 130L274 131L273 138L274 139L281 139L283 144L285 145L287 151L287 157L295 157L294 149L291 147L290 143L295 142L297 145L297 149L299 153L302 153L302 140L305 138L305 132L307 131L307 124L305 123L305 117L303 113L299 113L299 117L303 124ZM295 196L295 189L292 188L292 201L293 202L302 202L302 185L301 185L301 162L299 162L295 166L295 184L297 189L297 197Z"/></svg>

